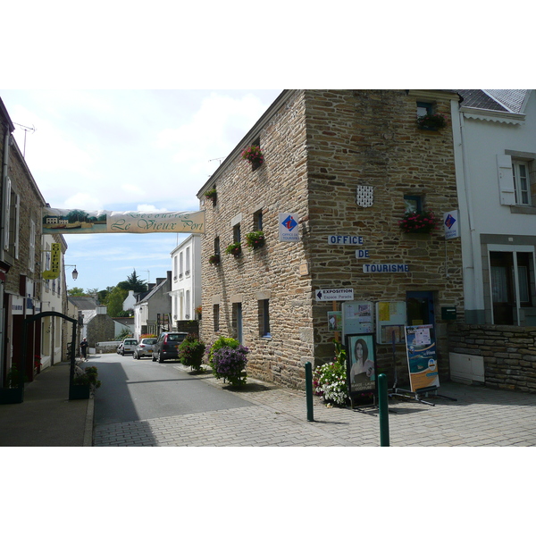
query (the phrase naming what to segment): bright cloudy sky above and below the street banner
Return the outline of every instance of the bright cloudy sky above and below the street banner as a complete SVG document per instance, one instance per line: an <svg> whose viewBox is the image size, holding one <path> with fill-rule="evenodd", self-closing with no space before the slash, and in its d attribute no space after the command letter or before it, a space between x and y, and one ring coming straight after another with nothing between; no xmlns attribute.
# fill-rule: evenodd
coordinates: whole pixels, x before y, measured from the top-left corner
<svg viewBox="0 0 536 536"><path fill-rule="evenodd" d="M281 89L0 90L14 137L53 208L199 210L197 191ZM188 234L68 235L68 288L155 282Z"/></svg>

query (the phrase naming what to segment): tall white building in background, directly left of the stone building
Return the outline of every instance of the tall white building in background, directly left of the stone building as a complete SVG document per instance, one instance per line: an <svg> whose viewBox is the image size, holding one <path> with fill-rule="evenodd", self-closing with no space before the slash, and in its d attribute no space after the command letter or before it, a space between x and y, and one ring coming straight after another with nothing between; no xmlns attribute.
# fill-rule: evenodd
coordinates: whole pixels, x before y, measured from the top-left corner
<svg viewBox="0 0 536 536"><path fill-rule="evenodd" d="M195 320L201 305L201 236L190 235L172 251L172 320Z"/></svg>

